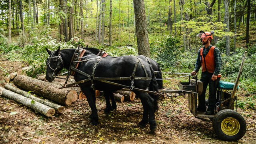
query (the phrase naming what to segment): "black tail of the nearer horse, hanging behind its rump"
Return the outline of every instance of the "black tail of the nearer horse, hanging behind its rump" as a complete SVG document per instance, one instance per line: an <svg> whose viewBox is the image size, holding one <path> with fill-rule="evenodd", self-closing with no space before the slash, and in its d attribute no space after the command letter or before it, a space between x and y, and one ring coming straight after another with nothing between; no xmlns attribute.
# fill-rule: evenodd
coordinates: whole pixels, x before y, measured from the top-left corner
<svg viewBox="0 0 256 144"><path fill-rule="evenodd" d="M154 74L154 70L152 68L152 66L150 66L150 70L151 70L151 81L149 84L149 90L154 91L154 92L158 92L158 82L156 81L156 76ZM159 99L159 95L158 94L149 94L151 98L153 98L154 100L154 110L158 110L158 99Z"/></svg>

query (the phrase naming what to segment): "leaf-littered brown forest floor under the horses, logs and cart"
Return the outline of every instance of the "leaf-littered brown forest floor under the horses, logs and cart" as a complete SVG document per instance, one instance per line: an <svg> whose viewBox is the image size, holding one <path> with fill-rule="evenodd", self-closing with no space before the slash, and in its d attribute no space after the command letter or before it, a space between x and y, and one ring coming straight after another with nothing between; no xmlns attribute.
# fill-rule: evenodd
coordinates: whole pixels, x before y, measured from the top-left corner
<svg viewBox="0 0 256 144"><path fill-rule="evenodd" d="M26 66L17 61L0 60L2 68L9 73L16 72ZM0 86L3 86L5 72L0 70ZM172 89L178 85L177 80L171 80L165 87ZM173 86L173 87L172 87ZM96 98L99 116L97 126L90 125L91 113L86 100L77 100L65 106L62 113L56 113L48 118L36 114L33 110L18 104L13 100L0 96L0 143L2 144L255 144L256 114L252 109L237 109L246 120L247 131L244 137L236 142L225 142L216 136L212 123L203 121L190 113L188 96L165 96L158 104L156 112L157 130L150 134L149 126L139 128L142 119L142 104L136 98L132 102L117 102L118 108L106 115L103 96ZM241 100L246 99L243 94Z"/></svg>

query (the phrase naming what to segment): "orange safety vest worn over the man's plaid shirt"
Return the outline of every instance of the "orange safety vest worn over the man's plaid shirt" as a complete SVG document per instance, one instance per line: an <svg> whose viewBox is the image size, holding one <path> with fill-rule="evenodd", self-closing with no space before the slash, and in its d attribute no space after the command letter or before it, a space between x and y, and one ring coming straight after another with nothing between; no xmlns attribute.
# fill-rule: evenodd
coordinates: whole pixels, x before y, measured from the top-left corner
<svg viewBox="0 0 256 144"><path fill-rule="evenodd" d="M206 56L203 56L203 49L200 49L200 57L201 57L201 65L202 65L202 72L210 72L210 73L214 73L215 71L215 60L214 60L214 48L215 46L212 46L208 52L208 54L206 54Z"/></svg>

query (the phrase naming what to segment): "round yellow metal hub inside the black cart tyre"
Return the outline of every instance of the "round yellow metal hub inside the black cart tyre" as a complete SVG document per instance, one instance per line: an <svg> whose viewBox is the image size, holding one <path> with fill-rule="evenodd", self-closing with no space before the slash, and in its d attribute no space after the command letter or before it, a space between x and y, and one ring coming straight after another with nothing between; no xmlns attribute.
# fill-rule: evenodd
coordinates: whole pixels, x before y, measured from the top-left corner
<svg viewBox="0 0 256 144"><path fill-rule="evenodd" d="M235 118L225 118L221 122L221 130L224 134L228 136L236 135L240 130L240 124Z"/></svg>

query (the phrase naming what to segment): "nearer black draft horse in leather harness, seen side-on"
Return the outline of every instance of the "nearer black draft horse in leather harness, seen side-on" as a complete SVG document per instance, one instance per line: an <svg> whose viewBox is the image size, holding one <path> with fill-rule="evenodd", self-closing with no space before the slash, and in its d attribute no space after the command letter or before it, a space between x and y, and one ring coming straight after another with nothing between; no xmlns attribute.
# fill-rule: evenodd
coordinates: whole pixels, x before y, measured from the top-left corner
<svg viewBox="0 0 256 144"><path fill-rule="evenodd" d="M70 68L70 64L72 64L72 57L76 49L60 50L60 48L58 48L58 50L51 52L46 48L46 51L50 55L46 61L46 80L52 82L60 70L63 68ZM140 90L148 89L152 92L156 92L158 90L154 70L150 64L142 60L139 60L138 62L138 58L135 56L99 58L99 56L86 51L84 56L81 58L81 62L77 69L80 72L76 72L74 74L74 79L76 82L85 80L85 82L80 83L79 86L82 92L86 95L89 106L92 110L89 120L93 125L98 124L94 88L96 90L104 91L104 95L106 95L105 98L109 98L114 91L122 89L123 87L121 85L134 86ZM120 85L94 80L94 78L120 78L120 80L109 80L110 82ZM121 80L121 78L130 79ZM143 128L147 123L149 123L151 132L154 132L156 130L154 99L144 91L133 91L136 96L140 98L143 106L143 116L138 126Z"/></svg>

